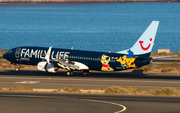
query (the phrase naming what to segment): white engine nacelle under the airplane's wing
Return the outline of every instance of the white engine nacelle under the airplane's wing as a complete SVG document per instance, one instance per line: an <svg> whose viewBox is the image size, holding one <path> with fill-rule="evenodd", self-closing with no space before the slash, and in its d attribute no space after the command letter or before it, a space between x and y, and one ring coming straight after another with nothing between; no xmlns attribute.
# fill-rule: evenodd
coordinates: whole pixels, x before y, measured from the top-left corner
<svg viewBox="0 0 180 113"><path fill-rule="evenodd" d="M52 63L47 63L46 61L39 62L37 64L37 69L40 71L46 71L46 72L51 72L55 73L58 71L58 68L54 66Z"/></svg>

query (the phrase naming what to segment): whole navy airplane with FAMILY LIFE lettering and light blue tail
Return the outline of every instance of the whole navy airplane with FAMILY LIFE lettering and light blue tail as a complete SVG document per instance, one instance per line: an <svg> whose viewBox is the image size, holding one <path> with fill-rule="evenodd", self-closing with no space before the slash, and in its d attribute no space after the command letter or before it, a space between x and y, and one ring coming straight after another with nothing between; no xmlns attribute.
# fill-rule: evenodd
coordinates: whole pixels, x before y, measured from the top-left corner
<svg viewBox="0 0 180 113"><path fill-rule="evenodd" d="M158 25L159 21L152 21L136 43L123 51L96 52L23 46L9 50L3 57L17 64L16 71L20 70L20 64L37 65L38 70L52 73L62 68L67 70L67 75L73 75L74 71L89 75L90 70L112 72L140 68L150 64L153 59L172 57L150 57Z"/></svg>

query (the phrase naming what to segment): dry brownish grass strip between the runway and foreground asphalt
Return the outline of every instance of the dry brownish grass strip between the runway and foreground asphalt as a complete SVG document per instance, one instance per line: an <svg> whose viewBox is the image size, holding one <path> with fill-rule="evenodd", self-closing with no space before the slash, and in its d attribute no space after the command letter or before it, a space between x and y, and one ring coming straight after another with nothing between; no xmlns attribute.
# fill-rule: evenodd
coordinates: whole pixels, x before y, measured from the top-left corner
<svg viewBox="0 0 180 113"><path fill-rule="evenodd" d="M33 91L32 88L26 87L26 86L15 86L13 88L0 88L0 91L18 91L18 92L49 92L47 90L44 91ZM58 93L58 92L65 92L65 93L81 93L81 90L78 88L68 88L65 87L64 89L58 89L58 90L53 90L50 91L52 93ZM83 91L84 92L84 91ZM105 94L124 94L124 95L160 95L160 96L180 96L180 90L177 90L174 87L161 87L157 88L155 90L148 89L146 91L143 91L141 89L136 89L134 87L128 87L128 88L123 88L120 86L109 86L107 87L104 91ZM90 91L87 90L84 93L97 93L96 91ZM103 94L103 93L101 93Z"/></svg>

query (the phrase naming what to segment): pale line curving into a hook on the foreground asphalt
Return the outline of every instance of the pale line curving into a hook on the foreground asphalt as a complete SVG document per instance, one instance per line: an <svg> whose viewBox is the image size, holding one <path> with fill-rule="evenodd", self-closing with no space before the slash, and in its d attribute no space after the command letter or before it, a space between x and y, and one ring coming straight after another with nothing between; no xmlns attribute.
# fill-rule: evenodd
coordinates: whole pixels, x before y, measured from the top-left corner
<svg viewBox="0 0 180 113"><path fill-rule="evenodd" d="M9 97L41 97L41 98L60 98L60 97L54 97L54 96L36 96L36 95L1 95L1 96L9 96ZM100 101L100 100L91 100L91 99L78 99L78 98L64 98L64 99L74 99L74 100L82 100L82 101L91 101L91 102L99 102L99 103L105 103L105 104L112 104L122 107L123 109L120 111L116 111L114 113L121 113L126 110L126 107L122 104L114 103L114 102L108 102L108 101Z"/></svg>

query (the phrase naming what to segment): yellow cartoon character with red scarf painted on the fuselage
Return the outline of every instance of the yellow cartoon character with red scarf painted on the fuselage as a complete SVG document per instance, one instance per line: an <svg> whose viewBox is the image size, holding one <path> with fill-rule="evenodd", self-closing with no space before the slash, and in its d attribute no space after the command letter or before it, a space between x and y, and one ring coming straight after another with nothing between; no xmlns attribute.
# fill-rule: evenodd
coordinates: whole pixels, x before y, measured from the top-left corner
<svg viewBox="0 0 180 113"><path fill-rule="evenodd" d="M110 62L110 57L103 54L101 56L102 71L114 71L114 69L110 67L109 62Z"/></svg>

